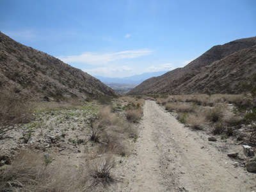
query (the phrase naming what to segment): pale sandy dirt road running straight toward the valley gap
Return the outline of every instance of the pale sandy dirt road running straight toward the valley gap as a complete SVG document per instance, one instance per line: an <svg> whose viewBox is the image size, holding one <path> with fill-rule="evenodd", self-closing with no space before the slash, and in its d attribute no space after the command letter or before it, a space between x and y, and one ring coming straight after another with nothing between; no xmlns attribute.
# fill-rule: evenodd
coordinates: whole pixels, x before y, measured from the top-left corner
<svg viewBox="0 0 256 192"><path fill-rule="evenodd" d="M256 174L235 167L200 134L147 100L134 154L122 166L124 185L116 191L256 191Z"/></svg>

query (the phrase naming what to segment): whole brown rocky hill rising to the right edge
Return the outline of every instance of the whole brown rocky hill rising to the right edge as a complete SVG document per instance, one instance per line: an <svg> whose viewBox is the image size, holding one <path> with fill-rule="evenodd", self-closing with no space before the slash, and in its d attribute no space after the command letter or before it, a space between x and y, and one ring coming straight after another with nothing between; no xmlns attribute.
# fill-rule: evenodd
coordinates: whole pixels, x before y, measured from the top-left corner
<svg viewBox="0 0 256 192"><path fill-rule="evenodd" d="M143 81L127 93L240 93L240 85L256 76L256 37L216 45L186 67Z"/></svg>

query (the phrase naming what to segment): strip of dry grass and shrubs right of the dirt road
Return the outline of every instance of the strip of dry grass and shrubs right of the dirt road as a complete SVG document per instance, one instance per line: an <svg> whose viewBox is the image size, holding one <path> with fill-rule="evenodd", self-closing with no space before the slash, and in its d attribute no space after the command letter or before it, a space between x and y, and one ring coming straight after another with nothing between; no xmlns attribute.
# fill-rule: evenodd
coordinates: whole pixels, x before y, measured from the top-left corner
<svg viewBox="0 0 256 192"><path fill-rule="evenodd" d="M166 110L192 129L208 129L213 134L241 138L239 129L250 145L256 145L256 78L243 84L243 95L157 95L153 97ZM155 95L156 96L156 95ZM244 133L243 133L244 134Z"/></svg>

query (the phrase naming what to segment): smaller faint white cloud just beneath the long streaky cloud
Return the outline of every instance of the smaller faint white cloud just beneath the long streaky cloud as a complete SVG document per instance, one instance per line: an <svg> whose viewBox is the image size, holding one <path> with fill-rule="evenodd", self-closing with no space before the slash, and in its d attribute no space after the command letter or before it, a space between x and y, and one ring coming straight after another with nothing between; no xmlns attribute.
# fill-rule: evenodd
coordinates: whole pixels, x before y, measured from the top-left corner
<svg viewBox="0 0 256 192"><path fill-rule="evenodd" d="M121 67L98 67L92 69L84 69L84 72L91 74L92 76L105 76L105 77L122 77L125 72L131 72L134 70L131 67L125 65Z"/></svg>

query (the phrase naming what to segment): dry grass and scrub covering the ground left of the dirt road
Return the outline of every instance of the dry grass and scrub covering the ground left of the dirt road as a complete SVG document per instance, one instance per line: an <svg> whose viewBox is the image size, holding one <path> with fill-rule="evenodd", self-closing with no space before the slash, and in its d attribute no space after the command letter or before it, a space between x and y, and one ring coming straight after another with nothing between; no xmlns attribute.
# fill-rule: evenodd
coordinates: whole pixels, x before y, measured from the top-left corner
<svg viewBox="0 0 256 192"><path fill-rule="evenodd" d="M5 104L12 104L10 109L18 106L22 111L24 107L19 103L28 106L28 103L16 97L12 99L13 102ZM15 129L8 129L6 133L22 132L20 142L28 146L40 138L47 142L47 147L31 145L29 149L18 150L19 155L12 160L12 165L1 169L0 191L100 191L105 188L115 180L111 170L115 168L116 157L127 157L131 143L138 138L134 122L140 120L143 104L143 99L134 97L110 100L108 97L98 102L69 100L40 103L34 111L29 111L29 118L20 118L26 117L26 111L13 113L15 116L10 122ZM6 115L3 111L10 109L1 109L1 115ZM138 116L130 117L129 111L136 114L139 111ZM11 114L6 116L10 117ZM32 114L33 119L29 116ZM51 151L51 148L54 150L57 147L60 151L65 150L66 147L61 148L63 141L67 141L70 147L66 147L70 150L84 145L85 163L74 166L72 158L69 161L56 155L45 158L45 150Z"/></svg>

